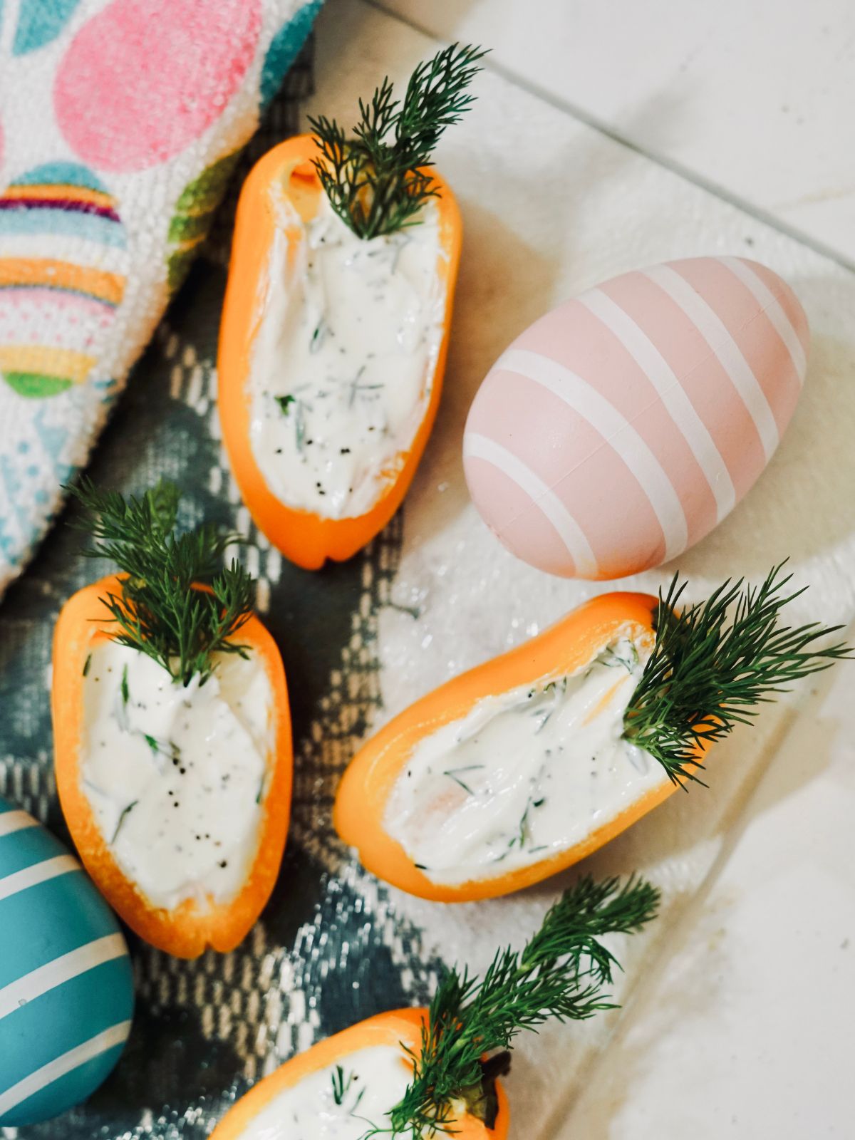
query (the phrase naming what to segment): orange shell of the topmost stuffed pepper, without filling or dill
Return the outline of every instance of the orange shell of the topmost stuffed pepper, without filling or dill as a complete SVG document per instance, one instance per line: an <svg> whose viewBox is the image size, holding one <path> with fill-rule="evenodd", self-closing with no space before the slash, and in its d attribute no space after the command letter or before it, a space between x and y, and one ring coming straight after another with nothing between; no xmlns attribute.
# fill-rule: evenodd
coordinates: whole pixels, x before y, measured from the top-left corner
<svg viewBox="0 0 855 1140"><path fill-rule="evenodd" d="M454 195L433 170L426 169L439 192L439 234L441 253L437 277L445 290L442 341L432 376L425 376L430 400L407 453L398 456L388 486L374 506L364 514L327 519L310 511L287 506L269 488L250 441L250 369L259 331L270 253L277 227L277 195L287 199L303 222L318 209L324 190L311 164L319 155L311 135L299 135L268 152L244 182L235 220L226 300L220 323L218 356L219 409L222 438L241 496L256 526L282 553L307 570L317 570L327 559L344 561L361 549L389 522L407 494L418 461L437 417L442 375L448 351L448 332L461 256L462 223ZM303 227L287 231L288 258L302 239Z"/></svg>

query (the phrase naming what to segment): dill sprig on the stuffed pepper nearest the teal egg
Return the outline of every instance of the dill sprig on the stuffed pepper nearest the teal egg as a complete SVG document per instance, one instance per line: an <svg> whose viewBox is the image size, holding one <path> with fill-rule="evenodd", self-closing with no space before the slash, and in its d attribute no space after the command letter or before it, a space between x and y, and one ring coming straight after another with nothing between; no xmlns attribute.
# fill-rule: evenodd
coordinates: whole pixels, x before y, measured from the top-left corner
<svg viewBox="0 0 855 1140"><path fill-rule="evenodd" d="M211 523L176 534L180 492L163 480L140 498L101 491L89 479L67 488L83 506L75 523L93 538L91 557L113 561L127 577L101 598L119 627L115 640L147 653L182 685L213 669L213 653L246 656L233 641L255 602L255 584L239 562L223 565L239 535ZM194 589L210 583L211 592Z"/></svg>

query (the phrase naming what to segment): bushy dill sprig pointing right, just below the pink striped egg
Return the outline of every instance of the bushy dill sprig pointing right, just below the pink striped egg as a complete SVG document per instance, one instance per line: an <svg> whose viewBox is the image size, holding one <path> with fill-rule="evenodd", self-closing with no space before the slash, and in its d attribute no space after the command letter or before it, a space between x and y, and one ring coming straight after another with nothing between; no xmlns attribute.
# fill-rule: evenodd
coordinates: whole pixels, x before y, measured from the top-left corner
<svg viewBox="0 0 855 1140"><path fill-rule="evenodd" d="M841 626L791 627L781 610L792 575L773 567L759 587L730 578L706 602L677 612L686 583L677 575L656 611L656 644L624 717L624 738L650 752L675 783L703 783L697 749L751 724L759 706L792 682L852 658L844 642L817 648ZM728 620L728 612L731 617Z"/></svg>

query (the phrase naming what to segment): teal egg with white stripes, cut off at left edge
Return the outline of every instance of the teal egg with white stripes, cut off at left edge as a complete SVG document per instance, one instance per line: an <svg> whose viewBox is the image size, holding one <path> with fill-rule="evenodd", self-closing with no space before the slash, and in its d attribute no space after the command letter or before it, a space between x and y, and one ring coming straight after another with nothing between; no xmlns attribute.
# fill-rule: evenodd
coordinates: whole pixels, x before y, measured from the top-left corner
<svg viewBox="0 0 855 1140"><path fill-rule="evenodd" d="M72 1108L113 1069L133 980L119 923L80 863L0 799L0 1126Z"/></svg>

